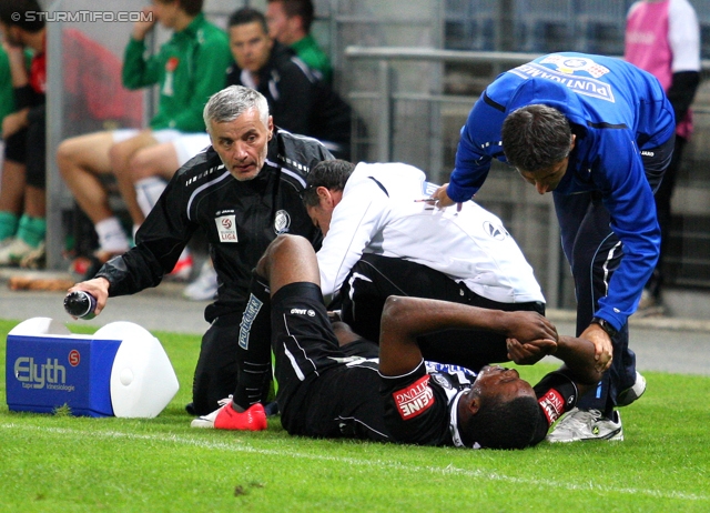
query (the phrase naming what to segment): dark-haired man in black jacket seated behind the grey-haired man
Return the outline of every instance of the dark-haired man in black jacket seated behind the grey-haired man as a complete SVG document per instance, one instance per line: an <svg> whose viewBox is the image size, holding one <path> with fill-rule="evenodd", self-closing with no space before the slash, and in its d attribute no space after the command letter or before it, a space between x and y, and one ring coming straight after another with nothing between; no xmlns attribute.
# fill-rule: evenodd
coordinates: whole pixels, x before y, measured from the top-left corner
<svg viewBox="0 0 710 513"><path fill-rule="evenodd" d="M351 108L298 59L268 37L261 12L243 8L229 21L235 66L227 83L264 94L274 122L293 133L311 135L341 159L349 155Z"/></svg>

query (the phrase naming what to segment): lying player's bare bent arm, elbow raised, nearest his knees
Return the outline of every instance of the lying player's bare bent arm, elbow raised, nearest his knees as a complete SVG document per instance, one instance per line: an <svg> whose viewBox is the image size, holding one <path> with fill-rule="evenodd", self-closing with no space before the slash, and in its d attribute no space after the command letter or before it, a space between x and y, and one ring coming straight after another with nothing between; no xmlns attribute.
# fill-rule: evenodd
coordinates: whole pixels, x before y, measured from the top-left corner
<svg viewBox="0 0 710 513"><path fill-rule="evenodd" d="M417 336L445 329L491 331L523 342L546 340L555 343L557 331L535 312L504 312L447 301L389 296L382 314L379 372L402 375L422 361ZM462 340L473 343L475 340Z"/></svg>

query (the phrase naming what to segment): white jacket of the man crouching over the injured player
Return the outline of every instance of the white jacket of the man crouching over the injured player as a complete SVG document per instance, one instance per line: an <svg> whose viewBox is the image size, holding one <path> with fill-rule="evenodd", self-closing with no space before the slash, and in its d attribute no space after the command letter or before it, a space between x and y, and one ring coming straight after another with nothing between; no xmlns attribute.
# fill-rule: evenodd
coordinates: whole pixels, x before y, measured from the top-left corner
<svg viewBox="0 0 710 513"><path fill-rule="evenodd" d="M460 212L415 201L435 189L408 164L357 164L317 253L323 294L341 288L363 253L375 253L427 265L494 301L545 302L503 222L473 201Z"/></svg>

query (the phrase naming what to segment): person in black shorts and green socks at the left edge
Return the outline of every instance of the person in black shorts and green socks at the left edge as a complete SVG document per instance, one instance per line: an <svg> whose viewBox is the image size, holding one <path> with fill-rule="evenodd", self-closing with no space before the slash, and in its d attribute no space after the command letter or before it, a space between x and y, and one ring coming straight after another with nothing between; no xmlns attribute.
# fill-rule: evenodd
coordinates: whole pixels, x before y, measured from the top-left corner
<svg viewBox="0 0 710 513"><path fill-rule="evenodd" d="M44 255L47 39L44 21L26 16L38 11L41 8L36 0L3 0L0 3L0 30L17 107L2 120L4 163L0 224L3 225L3 239L12 232L14 237L0 250L0 265L37 266ZM28 49L33 52L29 72L26 67Z"/></svg>

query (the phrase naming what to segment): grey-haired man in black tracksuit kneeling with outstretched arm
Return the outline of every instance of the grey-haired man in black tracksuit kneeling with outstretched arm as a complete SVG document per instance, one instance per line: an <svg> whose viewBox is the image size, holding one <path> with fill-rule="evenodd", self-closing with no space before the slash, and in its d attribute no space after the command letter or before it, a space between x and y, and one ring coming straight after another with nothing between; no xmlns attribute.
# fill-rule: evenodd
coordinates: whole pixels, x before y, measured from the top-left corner
<svg viewBox="0 0 710 513"><path fill-rule="evenodd" d="M199 415L234 391L251 272L268 243L293 233L320 247L322 234L300 193L311 168L333 158L318 141L274 127L266 100L252 89L229 87L210 99L204 112L212 145L175 173L138 231L135 248L70 289L93 294L99 313L109 296L158 285L202 229L219 290L205 309L211 326L202 339L189 405Z"/></svg>

